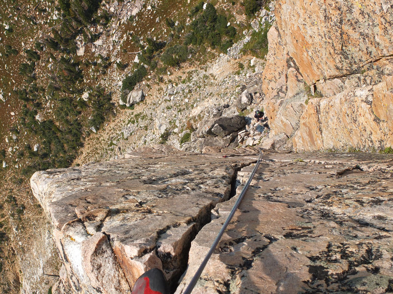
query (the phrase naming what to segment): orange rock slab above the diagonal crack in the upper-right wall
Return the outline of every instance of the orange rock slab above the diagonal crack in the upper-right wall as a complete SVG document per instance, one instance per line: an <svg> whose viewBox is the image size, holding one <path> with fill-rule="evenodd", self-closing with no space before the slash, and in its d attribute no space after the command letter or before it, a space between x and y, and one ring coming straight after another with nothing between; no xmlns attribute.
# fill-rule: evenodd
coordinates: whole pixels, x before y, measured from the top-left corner
<svg viewBox="0 0 393 294"><path fill-rule="evenodd" d="M308 84L354 73L392 54L392 2L278 0L276 19L288 53Z"/></svg>

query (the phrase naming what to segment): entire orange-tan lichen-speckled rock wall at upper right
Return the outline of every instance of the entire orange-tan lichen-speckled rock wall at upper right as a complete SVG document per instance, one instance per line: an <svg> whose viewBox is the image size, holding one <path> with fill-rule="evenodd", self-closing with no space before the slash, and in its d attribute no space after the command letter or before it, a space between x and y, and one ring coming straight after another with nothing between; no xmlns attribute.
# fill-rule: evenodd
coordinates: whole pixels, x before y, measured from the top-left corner
<svg viewBox="0 0 393 294"><path fill-rule="evenodd" d="M392 3L278 0L275 15L262 85L272 135L295 150L392 146Z"/></svg>

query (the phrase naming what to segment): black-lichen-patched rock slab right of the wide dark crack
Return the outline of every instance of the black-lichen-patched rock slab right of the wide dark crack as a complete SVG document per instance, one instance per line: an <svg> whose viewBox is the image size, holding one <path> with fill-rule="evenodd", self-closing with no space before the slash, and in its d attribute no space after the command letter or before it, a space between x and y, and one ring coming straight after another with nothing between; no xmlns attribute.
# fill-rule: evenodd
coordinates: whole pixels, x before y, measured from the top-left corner
<svg viewBox="0 0 393 294"><path fill-rule="evenodd" d="M239 172L243 183L252 168ZM382 154L265 155L193 293L391 292L392 172ZM235 200L197 234L176 294Z"/></svg>

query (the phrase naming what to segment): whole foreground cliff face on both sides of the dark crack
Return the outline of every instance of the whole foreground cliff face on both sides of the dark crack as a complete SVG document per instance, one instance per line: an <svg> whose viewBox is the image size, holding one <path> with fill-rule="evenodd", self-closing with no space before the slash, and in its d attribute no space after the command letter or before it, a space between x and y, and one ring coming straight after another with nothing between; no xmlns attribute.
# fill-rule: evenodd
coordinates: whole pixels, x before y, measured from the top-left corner
<svg viewBox="0 0 393 294"><path fill-rule="evenodd" d="M166 151L33 175L63 262L52 293L130 293L154 267L182 293L257 153ZM383 154L265 154L193 293L390 291L392 171Z"/></svg>

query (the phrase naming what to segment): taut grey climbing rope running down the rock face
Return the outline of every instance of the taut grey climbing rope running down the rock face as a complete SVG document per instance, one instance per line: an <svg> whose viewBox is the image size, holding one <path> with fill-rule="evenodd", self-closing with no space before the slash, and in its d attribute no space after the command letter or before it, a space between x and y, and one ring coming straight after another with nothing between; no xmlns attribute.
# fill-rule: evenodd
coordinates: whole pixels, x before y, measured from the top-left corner
<svg viewBox="0 0 393 294"><path fill-rule="evenodd" d="M205 258L203 259L202 263L200 264L197 272L194 274L191 282L188 284L186 290L184 290L183 294L191 294L191 292L193 291L195 285L197 284L197 281L198 281L200 275L202 274L203 269L205 268L207 262L210 259L210 256L213 254L213 251L216 249L216 246L220 242L221 237L224 235L226 227L228 226L229 222L231 221L233 215L235 214L236 209L238 208L238 206L239 206L240 202L242 201L244 195L246 194L246 191L247 191L248 187L250 186L251 181L253 180L253 176L254 176L256 170L258 169L258 166L259 166L259 163L260 163L261 159L262 159L262 151L260 151L259 158L258 158L258 161L255 164L253 172L250 174L250 178L248 179L247 183L244 185L242 192L240 193L239 197L236 200L236 203L233 205L232 210L231 210L229 216L227 217L225 223L223 224L223 227L221 228L220 232L218 233L216 239L214 240L212 246L210 247L209 252L207 252Z"/></svg>

